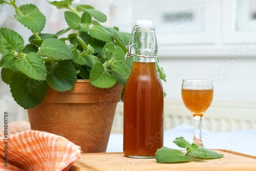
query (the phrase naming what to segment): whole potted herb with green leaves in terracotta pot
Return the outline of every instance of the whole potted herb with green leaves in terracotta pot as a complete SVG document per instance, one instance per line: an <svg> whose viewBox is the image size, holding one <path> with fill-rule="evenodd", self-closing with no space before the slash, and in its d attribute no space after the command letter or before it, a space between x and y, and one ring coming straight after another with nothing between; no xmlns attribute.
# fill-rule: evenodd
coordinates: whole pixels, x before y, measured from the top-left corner
<svg viewBox="0 0 256 171"><path fill-rule="evenodd" d="M104 152L130 74L132 60L125 59L130 34L102 26L106 15L72 2L49 2L67 9L63 18L69 27L48 34L41 33L46 17L35 5L0 0L13 6L14 18L31 31L25 45L17 32L0 28L1 77L14 100L28 109L32 130L64 136L83 152Z"/></svg>

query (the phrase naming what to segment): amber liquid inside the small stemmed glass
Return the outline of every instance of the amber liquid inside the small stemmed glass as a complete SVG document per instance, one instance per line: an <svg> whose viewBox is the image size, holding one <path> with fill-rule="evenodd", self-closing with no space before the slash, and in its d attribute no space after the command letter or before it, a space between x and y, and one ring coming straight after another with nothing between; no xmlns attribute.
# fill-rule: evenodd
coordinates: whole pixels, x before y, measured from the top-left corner
<svg viewBox="0 0 256 171"><path fill-rule="evenodd" d="M181 89L181 91L182 100L193 117L203 117L214 97L214 89Z"/></svg>

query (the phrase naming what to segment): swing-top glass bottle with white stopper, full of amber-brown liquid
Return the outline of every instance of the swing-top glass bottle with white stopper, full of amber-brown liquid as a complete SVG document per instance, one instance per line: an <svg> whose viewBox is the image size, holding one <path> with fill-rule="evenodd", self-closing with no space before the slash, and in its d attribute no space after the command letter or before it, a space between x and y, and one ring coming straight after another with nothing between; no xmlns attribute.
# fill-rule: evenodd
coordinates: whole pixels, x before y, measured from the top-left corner
<svg viewBox="0 0 256 171"><path fill-rule="evenodd" d="M133 66L124 88L123 153L131 158L155 158L163 146L163 87L152 21L137 21L127 50Z"/></svg>

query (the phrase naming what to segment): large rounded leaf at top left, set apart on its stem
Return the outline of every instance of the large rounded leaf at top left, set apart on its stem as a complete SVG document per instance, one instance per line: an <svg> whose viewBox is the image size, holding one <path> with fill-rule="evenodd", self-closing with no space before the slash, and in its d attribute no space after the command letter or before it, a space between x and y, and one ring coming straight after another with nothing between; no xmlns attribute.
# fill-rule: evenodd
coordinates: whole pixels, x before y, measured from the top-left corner
<svg viewBox="0 0 256 171"><path fill-rule="evenodd" d="M14 17L29 30L40 33L46 24L46 17L39 9L32 4L25 4L19 7L22 15L15 14Z"/></svg>

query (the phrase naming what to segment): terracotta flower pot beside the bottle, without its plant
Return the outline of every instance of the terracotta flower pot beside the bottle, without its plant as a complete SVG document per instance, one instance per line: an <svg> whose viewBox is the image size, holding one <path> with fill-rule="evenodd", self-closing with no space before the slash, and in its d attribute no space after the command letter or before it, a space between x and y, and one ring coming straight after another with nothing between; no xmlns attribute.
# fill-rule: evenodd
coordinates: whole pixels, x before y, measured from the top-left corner
<svg viewBox="0 0 256 171"><path fill-rule="evenodd" d="M48 88L45 100L28 110L31 129L66 137L83 153L105 152L122 87L99 89L77 80L70 92Z"/></svg>

